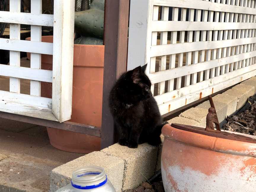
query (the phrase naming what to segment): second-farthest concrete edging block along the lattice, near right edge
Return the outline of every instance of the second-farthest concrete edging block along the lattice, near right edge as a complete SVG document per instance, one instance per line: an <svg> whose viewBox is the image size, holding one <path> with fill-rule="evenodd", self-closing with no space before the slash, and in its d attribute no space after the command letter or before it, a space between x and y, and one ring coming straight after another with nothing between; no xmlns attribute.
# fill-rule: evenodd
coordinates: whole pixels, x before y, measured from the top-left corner
<svg viewBox="0 0 256 192"><path fill-rule="evenodd" d="M232 89L225 91L225 94L231 97L237 97L236 110L242 108L248 101L248 97L254 95L254 87L249 85L238 84Z"/></svg>

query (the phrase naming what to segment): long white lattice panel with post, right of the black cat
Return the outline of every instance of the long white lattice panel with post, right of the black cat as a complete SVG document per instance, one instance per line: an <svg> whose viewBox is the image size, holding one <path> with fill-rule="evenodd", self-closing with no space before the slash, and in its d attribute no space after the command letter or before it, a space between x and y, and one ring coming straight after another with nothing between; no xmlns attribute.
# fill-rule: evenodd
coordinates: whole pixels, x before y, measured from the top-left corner
<svg viewBox="0 0 256 192"><path fill-rule="evenodd" d="M131 0L128 70L148 63L161 114L256 75L255 0Z"/></svg>

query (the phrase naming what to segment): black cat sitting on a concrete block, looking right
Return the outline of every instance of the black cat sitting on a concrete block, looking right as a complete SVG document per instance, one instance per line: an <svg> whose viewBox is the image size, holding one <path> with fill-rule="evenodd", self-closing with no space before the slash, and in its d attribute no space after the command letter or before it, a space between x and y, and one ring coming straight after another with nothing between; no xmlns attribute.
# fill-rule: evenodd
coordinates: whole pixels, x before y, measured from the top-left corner
<svg viewBox="0 0 256 192"><path fill-rule="evenodd" d="M147 64L127 71L113 86L109 107L119 133L119 144L137 148L138 144L161 143L162 118L145 74Z"/></svg>

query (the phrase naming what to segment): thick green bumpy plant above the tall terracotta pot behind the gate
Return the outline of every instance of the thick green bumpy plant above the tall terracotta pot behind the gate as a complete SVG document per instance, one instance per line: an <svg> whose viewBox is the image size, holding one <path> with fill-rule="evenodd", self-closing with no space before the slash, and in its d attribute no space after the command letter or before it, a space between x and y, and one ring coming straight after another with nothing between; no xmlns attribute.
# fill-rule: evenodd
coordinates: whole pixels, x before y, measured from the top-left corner
<svg viewBox="0 0 256 192"><path fill-rule="evenodd" d="M75 44L103 45L105 0L94 0L90 9L75 12Z"/></svg>

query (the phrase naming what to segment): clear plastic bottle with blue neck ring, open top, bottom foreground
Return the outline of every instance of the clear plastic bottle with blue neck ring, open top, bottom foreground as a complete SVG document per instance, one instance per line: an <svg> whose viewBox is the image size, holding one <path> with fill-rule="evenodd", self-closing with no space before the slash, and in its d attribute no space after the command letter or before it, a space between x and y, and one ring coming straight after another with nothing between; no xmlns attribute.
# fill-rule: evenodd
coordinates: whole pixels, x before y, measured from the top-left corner
<svg viewBox="0 0 256 192"><path fill-rule="evenodd" d="M88 166L72 174L71 184L56 192L116 192L102 167Z"/></svg>

